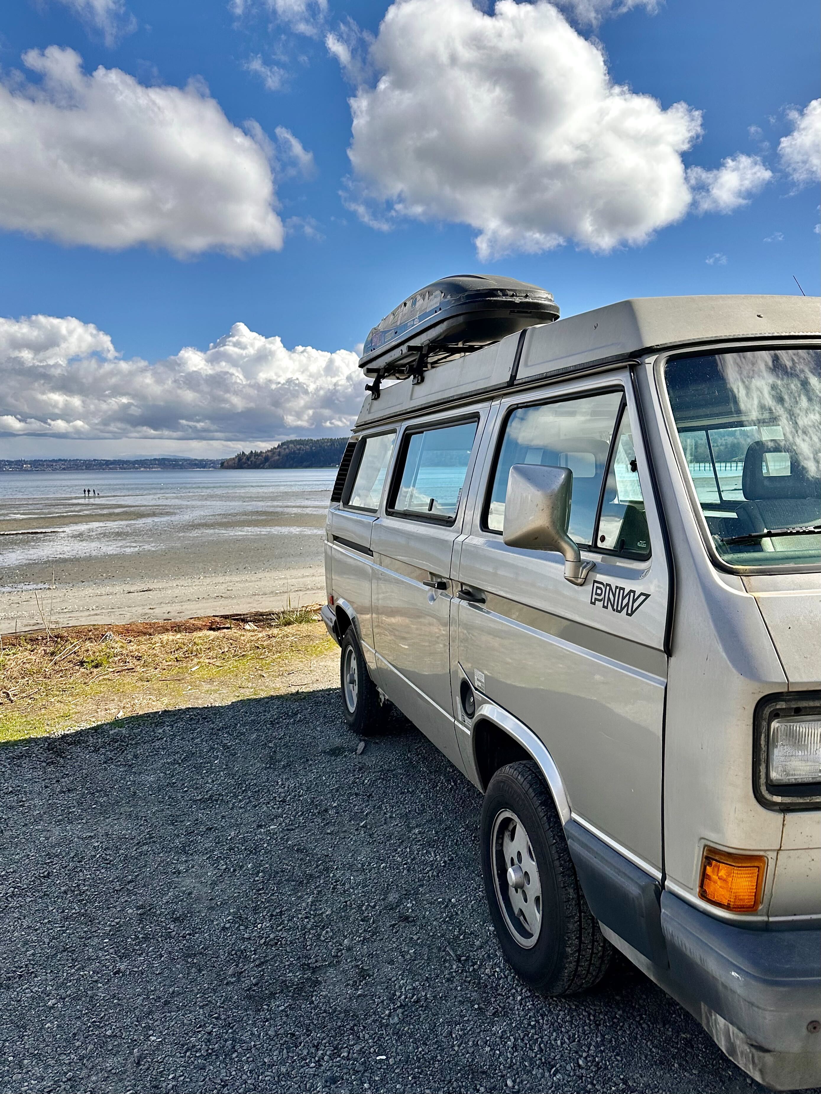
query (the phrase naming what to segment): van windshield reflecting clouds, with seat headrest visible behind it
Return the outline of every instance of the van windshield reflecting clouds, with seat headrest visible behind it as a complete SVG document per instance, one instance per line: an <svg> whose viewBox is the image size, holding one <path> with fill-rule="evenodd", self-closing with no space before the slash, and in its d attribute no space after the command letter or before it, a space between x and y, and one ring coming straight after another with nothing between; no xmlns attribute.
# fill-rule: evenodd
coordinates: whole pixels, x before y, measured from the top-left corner
<svg viewBox="0 0 821 1094"><path fill-rule="evenodd" d="M821 563L821 350L678 358L664 381L713 543L733 567Z"/></svg>

